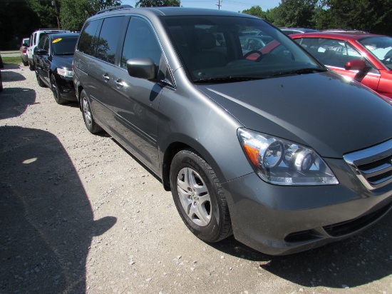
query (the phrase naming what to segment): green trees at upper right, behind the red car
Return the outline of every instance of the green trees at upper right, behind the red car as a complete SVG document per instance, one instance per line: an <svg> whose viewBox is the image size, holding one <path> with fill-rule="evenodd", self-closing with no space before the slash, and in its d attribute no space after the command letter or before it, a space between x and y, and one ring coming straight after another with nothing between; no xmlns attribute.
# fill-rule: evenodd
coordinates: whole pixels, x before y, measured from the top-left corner
<svg viewBox="0 0 392 294"><path fill-rule="evenodd" d="M282 0L274 9L242 11L275 26L313 29L358 29L392 35L392 0Z"/></svg>

